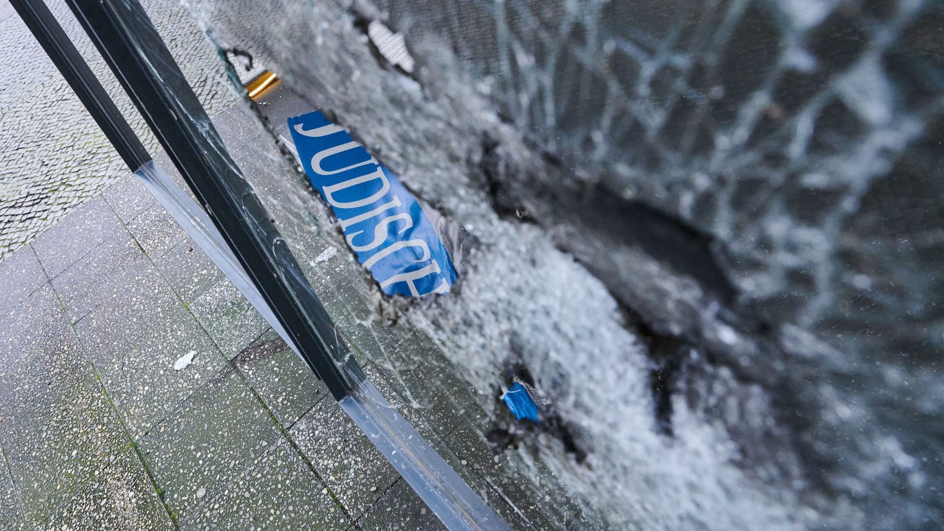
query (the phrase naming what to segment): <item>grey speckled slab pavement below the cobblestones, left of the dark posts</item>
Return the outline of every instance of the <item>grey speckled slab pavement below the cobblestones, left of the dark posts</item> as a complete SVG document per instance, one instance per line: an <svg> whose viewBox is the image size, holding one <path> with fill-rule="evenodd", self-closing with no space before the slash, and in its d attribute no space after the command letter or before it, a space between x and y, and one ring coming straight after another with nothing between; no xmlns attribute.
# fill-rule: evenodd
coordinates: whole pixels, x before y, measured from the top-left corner
<svg viewBox="0 0 944 531"><path fill-rule="evenodd" d="M0 529L440 527L133 177L8 255L0 279ZM470 437L462 387L404 412L529 528L479 473L499 459Z"/></svg>

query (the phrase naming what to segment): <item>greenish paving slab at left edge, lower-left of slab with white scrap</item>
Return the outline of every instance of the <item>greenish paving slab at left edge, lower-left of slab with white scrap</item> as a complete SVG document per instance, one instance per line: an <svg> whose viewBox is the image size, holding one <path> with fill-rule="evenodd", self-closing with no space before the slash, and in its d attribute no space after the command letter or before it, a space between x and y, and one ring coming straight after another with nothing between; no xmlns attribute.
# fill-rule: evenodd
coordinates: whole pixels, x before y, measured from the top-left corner
<svg viewBox="0 0 944 531"><path fill-rule="evenodd" d="M0 393L13 405L5 407L0 445L24 522L39 524L128 441L71 332L2 370Z"/></svg>

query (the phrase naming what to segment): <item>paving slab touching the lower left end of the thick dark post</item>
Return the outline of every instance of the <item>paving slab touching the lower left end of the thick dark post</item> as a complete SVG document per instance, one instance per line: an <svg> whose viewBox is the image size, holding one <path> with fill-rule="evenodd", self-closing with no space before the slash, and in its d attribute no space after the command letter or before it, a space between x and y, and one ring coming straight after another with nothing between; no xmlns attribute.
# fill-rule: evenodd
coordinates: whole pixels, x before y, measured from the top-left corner
<svg viewBox="0 0 944 531"><path fill-rule="evenodd" d="M232 361L285 428L328 395L328 387L271 330Z"/></svg>

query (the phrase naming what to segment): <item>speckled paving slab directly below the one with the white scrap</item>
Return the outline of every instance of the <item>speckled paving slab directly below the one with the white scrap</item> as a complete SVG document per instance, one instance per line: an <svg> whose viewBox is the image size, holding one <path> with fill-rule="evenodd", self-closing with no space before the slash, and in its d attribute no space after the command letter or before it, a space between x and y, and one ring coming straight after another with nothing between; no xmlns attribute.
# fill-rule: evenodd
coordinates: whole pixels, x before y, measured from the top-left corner
<svg viewBox="0 0 944 531"><path fill-rule="evenodd" d="M221 373L139 440L144 460L178 522L211 499L281 437L239 371Z"/></svg>

